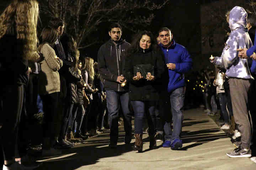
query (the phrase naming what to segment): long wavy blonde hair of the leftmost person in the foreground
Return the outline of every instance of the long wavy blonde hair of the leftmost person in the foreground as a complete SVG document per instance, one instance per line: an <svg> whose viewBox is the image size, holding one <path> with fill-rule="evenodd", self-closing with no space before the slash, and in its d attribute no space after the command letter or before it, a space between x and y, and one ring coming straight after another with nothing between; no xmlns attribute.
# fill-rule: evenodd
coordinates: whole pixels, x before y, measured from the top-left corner
<svg viewBox="0 0 256 170"><path fill-rule="evenodd" d="M14 0L0 16L0 38L5 34L15 35L21 42L18 49L22 58L37 60L37 0Z"/></svg>

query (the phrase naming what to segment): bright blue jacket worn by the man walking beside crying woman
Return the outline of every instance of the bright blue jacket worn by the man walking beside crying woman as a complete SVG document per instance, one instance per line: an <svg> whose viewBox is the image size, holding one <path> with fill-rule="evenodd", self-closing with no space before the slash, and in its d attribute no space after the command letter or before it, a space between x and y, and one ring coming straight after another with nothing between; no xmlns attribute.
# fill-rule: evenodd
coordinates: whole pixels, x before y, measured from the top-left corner
<svg viewBox="0 0 256 170"><path fill-rule="evenodd" d="M174 70L168 69L169 83L167 90L170 93L186 85L184 73L191 70L193 62L187 49L174 40L172 40L172 44L169 47L165 47L162 44L160 46L165 56L165 63L174 63L176 65Z"/></svg>

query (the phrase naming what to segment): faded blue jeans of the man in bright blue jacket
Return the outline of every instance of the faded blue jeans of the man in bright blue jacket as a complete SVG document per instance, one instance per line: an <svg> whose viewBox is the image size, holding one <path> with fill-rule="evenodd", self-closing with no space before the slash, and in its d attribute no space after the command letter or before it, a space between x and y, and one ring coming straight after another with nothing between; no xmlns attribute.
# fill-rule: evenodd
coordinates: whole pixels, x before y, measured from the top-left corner
<svg viewBox="0 0 256 170"><path fill-rule="evenodd" d="M176 138L180 139L180 134L182 130L184 98L184 87L175 89L170 94L173 130L171 129L171 122L166 122L164 125L165 140L172 142Z"/></svg>

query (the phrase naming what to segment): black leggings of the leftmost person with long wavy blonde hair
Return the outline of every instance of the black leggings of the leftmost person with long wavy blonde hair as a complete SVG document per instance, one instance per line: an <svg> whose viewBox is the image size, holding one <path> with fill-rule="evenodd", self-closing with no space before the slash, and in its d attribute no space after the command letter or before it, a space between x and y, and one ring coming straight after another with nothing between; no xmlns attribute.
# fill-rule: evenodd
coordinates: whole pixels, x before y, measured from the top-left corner
<svg viewBox="0 0 256 170"><path fill-rule="evenodd" d="M4 160L11 160L17 153L18 125L23 108L24 85L7 85L2 94L3 126L1 128L1 145ZM10 107L11 106L11 107Z"/></svg>

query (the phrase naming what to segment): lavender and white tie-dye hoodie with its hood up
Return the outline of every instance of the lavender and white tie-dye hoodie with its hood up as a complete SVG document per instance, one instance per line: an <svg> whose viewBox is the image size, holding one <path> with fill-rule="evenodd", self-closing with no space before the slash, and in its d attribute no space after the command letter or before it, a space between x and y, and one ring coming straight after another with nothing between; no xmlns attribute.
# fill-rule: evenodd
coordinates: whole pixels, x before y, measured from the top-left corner
<svg viewBox="0 0 256 170"><path fill-rule="evenodd" d="M250 73L248 62L251 58L242 59L238 57L236 49L250 48L252 42L246 28L247 13L244 8L235 6L229 14L230 36L221 57L214 57L213 63L225 68L227 77L253 79ZM248 61L247 61L248 60Z"/></svg>

